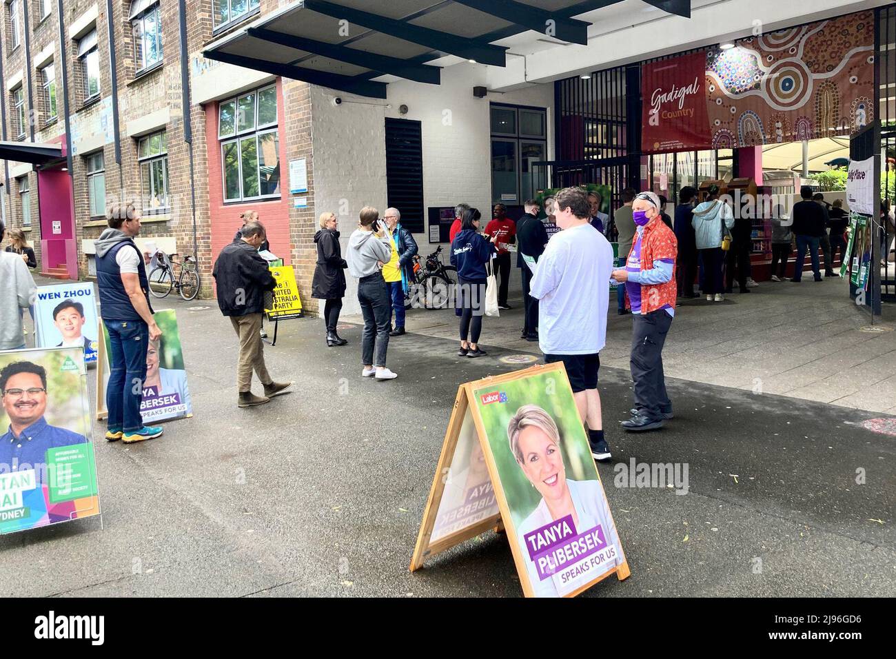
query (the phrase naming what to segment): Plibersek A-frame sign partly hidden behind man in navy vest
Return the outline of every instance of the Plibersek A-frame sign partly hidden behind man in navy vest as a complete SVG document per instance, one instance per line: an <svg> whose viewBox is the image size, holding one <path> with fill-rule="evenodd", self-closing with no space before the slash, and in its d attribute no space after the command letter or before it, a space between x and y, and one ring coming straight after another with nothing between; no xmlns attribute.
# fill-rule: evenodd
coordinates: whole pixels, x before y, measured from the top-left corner
<svg viewBox="0 0 896 659"><path fill-rule="evenodd" d="M174 309L157 311L156 325L162 331L158 341L151 341L146 351L146 378L143 380L143 400L140 413L144 424L170 421L193 416L193 401L190 388L186 384L184 350L177 328L177 314ZM109 379L109 359L112 345L106 328L100 323L103 348L99 369L97 369L97 409L98 418L106 415L106 388Z"/></svg>

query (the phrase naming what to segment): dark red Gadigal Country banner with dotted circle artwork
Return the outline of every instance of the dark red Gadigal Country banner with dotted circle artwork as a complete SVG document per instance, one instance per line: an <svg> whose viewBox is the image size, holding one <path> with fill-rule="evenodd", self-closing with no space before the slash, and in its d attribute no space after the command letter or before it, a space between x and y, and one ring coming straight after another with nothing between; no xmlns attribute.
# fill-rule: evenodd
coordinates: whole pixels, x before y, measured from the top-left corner
<svg viewBox="0 0 896 659"><path fill-rule="evenodd" d="M642 66L642 151L849 135L874 119L873 12L740 39L735 46ZM693 93L701 58L702 92ZM701 113L705 124L696 118Z"/></svg>

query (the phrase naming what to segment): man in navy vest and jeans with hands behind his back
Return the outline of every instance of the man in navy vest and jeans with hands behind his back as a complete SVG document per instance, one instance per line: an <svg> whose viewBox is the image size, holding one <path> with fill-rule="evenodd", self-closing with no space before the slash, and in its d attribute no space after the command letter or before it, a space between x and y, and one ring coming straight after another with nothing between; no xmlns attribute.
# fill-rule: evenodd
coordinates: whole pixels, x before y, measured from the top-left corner
<svg viewBox="0 0 896 659"><path fill-rule="evenodd" d="M144 426L140 413L146 351L162 331L152 318L146 278L149 255L141 254L134 243L140 233L140 212L134 204L112 204L106 219L109 228L96 242L99 304L111 346L106 438L130 444L162 434L161 428Z"/></svg>

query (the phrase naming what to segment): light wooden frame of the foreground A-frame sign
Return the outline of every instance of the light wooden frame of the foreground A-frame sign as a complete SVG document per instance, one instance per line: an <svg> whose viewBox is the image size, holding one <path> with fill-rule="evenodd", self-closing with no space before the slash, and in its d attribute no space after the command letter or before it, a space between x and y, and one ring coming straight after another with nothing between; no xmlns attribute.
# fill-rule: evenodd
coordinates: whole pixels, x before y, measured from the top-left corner
<svg viewBox="0 0 896 659"><path fill-rule="evenodd" d="M435 469L435 478L433 479L433 485L429 490L429 498L426 501L426 508L424 509L423 519L420 523L417 543L414 547L414 554L410 561L411 572L423 568L424 561L427 558L435 556L435 554L441 551L451 549L453 546L469 540L470 538L476 537L481 533L485 533L489 529L495 528L495 531L500 531L505 527L507 531L507 538L510 542L511 552L513 553L513 562L516 565L517 574L520 576L520 583L522 585L523 594L526 597L534 596L534 590L530 583L530 575L526 563L527 559L522 555L520 543L516 542L518 538L517 529L513 525L513 516L511 516L510 506L508 505L507 499L504 495L504 489L501 487L501 479L497 470L495 455L493 455L491 445L488 442L485 423L483 422L482 417L478 411L478 407L475 403L474 392L482 387L500 385L502 383L521 379L521 377L527 377L536 374L541 375L550 372L556 372L557 375L562 375L564 383L566 384L566 386L569 386L569 379L568 377L566 377L566 369L564 368L563 363L555 363L547 365L539 364L528 369L505 373L501 376L486 377L475 382L464 383L460 387L458 387L457 397L454 400L454 408L452 410L451 420L448 422L448 429L445 432L444 443L442 445L442 453L441 455L439 455L439 461ZM572 387L570 387L570 390L572 391ZM444 493L444 474L448 473L448 469L451 467L454 458L454 452L457 448L458 440L460 439L461 435L461 425L463 423L464 417L468 412L470 412L472 420L476 426L479 446L482 448L483 455L485 455L486 458L488 475L495 492L495 498L497 499L498 509L500 512L495 516L489 516L487 519L481 520L473 525L451 533L450 535L441 538L436 542L431 542L430 537L433 532L435 519L438 515L439 505L442 502L442 495ZM578 410L576 410L576 416L581 422L582 418L579 416ZM603 487L603 481L600 478L597 466L593 461L591 461L590 464L591 468L594 469L596 479L601 484L601 487ZM606 497L606 493L604 496ZM608 506L607 510L609 510ZM609 521L613 524L614 527L616 527L616 521L613 519L612 511L609 511ZM618 536L617 528L616 535ZM616 574L616 577L620 581L628 578L631 575L631 569L628 567L627 559L625 559L625 551L623 550L621 540L618 549L622 555L622 561L619 565L617 565L615 568L609 568L604 574L596 577L595 579L589 581L587 584L578 587L572 593L566 594L564 596L574 597L582 593L583 591L588 590L591 586L597 584L599 581L602 581L612 574Z"/></svg>

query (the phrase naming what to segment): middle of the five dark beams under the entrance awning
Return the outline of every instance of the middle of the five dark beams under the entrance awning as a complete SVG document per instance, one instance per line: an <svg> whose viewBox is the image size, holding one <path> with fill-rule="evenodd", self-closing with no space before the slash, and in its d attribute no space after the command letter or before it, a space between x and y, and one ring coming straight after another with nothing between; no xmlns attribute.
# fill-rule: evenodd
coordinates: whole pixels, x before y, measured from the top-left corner
<svg viewBox="0 0 896 659"><path fill-rule="evenodd" d="M430 30L409 22L396 21L376 13L362 12L358 9L334 4L327 0L305 0L305 8L325 16L361 25L368 30L383 32L396 39L404 39L426 48L433 48L465 59L472 59L479 64L506 66L507 48L493 46L486 41L463 39L456 34Z"/></svg>

